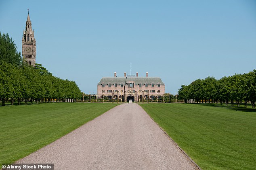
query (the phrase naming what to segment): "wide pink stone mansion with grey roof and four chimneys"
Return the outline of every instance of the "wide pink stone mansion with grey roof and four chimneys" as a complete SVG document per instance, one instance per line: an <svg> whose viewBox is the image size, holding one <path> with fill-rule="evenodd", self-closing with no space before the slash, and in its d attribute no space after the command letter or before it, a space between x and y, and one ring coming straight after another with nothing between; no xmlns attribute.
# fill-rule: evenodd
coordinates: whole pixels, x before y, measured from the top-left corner
<svg viewBox="0 0 256 170"><path fill-rule="evenodd" d="M165 84L159 77L136 76L103 77L97 85L97 98L107 96L108 99L119 98L120 100L133 101L149 99L155 100L165 93Z"/></svg>

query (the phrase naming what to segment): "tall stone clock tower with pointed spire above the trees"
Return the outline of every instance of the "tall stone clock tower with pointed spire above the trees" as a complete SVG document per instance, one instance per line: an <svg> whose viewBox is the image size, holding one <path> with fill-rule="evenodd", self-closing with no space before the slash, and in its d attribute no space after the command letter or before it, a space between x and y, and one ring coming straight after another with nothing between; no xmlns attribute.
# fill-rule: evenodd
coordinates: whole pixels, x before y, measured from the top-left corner
<svg viewBox="0 0 256 170"><path fill-rule="evenodd" d="M27 14L26 30L23 30L22 37L22 57L25 62L31 66L36 63L36 39L34 30L31 27L29 13Z"/></svg>

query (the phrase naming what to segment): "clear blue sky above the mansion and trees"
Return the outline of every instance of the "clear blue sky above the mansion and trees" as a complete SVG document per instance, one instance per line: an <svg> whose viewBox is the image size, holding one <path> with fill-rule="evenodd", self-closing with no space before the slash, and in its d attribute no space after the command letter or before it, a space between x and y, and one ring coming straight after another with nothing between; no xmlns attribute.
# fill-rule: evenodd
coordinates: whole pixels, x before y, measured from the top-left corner
<svg viewBox="0 0 256 170"><path fill-rule="evenodd" d="M36 63L96 93L102 77L161 77L176 94L198 78L256 69L254 0L0 0L0 31L21 51L27 9Z"/></svg>

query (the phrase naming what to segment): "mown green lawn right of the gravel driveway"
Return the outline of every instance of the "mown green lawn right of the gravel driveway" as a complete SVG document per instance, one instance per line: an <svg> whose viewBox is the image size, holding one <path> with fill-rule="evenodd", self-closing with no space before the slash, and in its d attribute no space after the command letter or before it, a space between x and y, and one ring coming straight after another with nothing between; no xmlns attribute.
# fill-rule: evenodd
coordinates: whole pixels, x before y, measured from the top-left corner
<svg viewBox="0 0 256 170"><path fill-rule="evenodd" d="M203 170L255 170L256 109L140 105Z"/></svg>

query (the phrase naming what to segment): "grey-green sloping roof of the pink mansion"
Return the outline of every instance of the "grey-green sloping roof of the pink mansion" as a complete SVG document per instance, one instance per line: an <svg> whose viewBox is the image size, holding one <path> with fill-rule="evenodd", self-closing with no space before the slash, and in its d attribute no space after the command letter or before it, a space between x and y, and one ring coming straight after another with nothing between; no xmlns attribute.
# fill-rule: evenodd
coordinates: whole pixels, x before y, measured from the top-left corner
<svg viewBox="0 0 256 170"><path fill-rule="evenodd" d="M103 77L98 85L105 84L124 84L126 77ZM135 84L158 84L164 85L164 82L159 77L127 77L126 83L134 82Z"/></svg>

